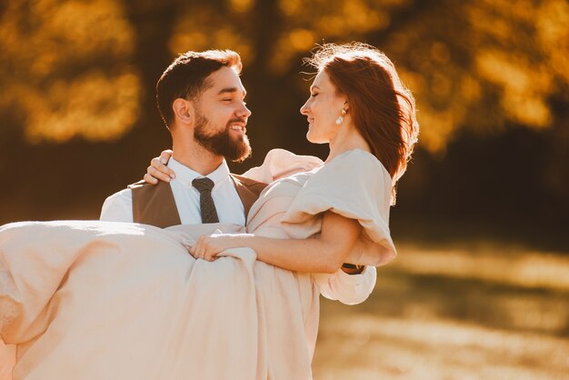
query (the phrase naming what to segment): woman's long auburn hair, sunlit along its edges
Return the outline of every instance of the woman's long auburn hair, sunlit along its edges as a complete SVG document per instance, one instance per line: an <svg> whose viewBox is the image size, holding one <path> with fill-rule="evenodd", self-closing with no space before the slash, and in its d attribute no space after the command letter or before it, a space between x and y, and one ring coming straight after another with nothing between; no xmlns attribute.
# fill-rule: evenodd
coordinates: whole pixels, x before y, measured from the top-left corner
<svg viewBox="0 0 569 380"><path fill-rule="evenodd" d="M371 45L325 44L307 63L324 70L336 91L347 96L355 128L391 175L394 205L395 185L419 134L413 95L389 58Z"/></svg>

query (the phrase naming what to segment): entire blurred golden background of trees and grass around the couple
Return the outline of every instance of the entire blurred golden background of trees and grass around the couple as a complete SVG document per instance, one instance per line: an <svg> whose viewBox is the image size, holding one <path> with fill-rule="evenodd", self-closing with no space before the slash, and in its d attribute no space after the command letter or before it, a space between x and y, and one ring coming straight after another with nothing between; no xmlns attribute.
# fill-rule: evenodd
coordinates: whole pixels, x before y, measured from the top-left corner
<svg viewBox="0 0 569 380"><path fill-rule="evenodd" d="M302 65L362 41L417 102L394 265L364 305L324 302L316 379L569 374L566 0L4 0L0 223L94 219L169 147L155 82L179 53L245 63L254 155L304 140Z"/></svg>

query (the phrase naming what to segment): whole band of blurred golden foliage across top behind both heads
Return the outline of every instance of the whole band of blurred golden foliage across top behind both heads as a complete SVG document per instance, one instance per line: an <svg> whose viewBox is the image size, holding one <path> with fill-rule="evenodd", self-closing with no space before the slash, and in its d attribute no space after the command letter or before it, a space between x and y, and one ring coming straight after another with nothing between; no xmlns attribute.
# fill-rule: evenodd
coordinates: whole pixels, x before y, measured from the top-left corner
<svg viewBox="0 0 569 380"><path fill-rule="evenodd" d="M296 75L315 43L378 45L414 91L422 144L434 153L462 127L547 128L549 100L569 101L564 0L10 1L0 37L0 106L25 110L32 141L125 134L140 82L155 83L155 70L141 78L139 67L191 49L234 49L263 78L250 82L266 84Z"/></svg>

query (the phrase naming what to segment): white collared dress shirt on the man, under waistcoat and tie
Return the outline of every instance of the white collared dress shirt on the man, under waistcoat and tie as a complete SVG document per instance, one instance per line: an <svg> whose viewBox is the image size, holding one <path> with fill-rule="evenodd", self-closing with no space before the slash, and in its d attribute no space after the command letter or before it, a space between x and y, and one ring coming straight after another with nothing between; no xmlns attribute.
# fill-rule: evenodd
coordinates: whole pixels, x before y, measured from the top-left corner
<svg viewBox="0 0 569 380"><path fill-rule="evenodd" d="M195 178L204 177L204 175L180 164L174 158L170 158L168 167L175 173L175 179L170 181L170 187L174 194L175 205L182 225L201 224L200 194L192 185L192 181ZM212 198L219 221L221 223L245 225L245 208L239 194L237 194L235 183L229 175L229 167L225 160L207 177L215 184L212 189ZM106 198L100 219L109 222L133 223L132 190L124 189Z"/></svg>

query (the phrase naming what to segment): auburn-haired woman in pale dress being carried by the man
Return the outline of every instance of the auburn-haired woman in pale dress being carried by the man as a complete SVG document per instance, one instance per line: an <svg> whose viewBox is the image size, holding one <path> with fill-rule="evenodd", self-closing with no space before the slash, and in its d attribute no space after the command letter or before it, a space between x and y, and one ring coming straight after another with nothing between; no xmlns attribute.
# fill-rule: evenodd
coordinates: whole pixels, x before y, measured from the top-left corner
<svg viewBox="0 0 569 380"><path fill-rule="evenodd" d="M245 231L0 228L0 336L17 344L14 379L312 377L330 274L394 258L389 207L418 125L412 95L374 47L324 45L310 63L318 73L301 113L308 140L330 155L292 175L302 156L267 155L250 175L279 179Z"/></svg>

